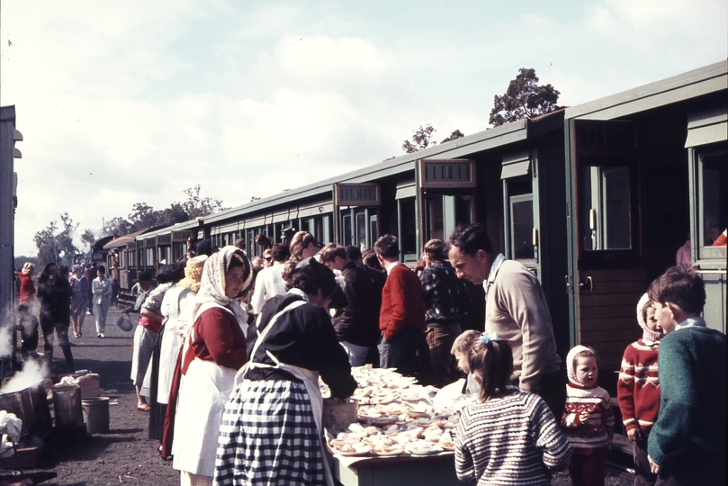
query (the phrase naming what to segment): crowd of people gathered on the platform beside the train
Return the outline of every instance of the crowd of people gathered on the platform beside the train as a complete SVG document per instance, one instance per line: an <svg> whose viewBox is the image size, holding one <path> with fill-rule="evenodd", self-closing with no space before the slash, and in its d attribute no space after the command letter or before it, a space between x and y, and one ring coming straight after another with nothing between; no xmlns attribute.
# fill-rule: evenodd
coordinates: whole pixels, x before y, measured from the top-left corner
<svg viewBox="0 0 728 486"><path fill-rule="evenodd" d="M598 386L598 354L573 347L562 364L541 284L496 253L481 224L428 241L414 270L391 235L364 249L323 246L305 231L287 239L256 239L267 248L252 260L243 240L191 244L156 287L139 275L124 310L139 313L137 409L151 412L149 437L183 485L333 484L319 378L346 399L357 386L351 367L366 364L463 399L462 481L548 484L568 469L575 485L604 484L615 415ZM22 270L26 295L32 271ZM96 271L89 285L80 269L68 277L49 264L38 281L46 356L55 329L70 369L68 323L76 316L81 334L88 288L103 338L112 285ZM483 305L465 281L484 290L481 329L463 329ZM679 266L637 303L643 338L625 350L617 386L635 484L723 483L725 338L700 318L705 302L701 277ZM21 315L26 354L32 316Z"/></svg>

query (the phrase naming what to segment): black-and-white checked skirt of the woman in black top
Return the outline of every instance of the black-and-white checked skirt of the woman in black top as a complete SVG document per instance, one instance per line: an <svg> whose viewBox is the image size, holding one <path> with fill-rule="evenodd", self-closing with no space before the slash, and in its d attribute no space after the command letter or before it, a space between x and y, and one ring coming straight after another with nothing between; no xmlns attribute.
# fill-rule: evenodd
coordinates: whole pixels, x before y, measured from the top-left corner
<svg viewBox="0 0 728 486"><path fill-rule="evenodd" d="M220 424L215 484L325 485L319 432L303 383L244 381Z"/></svg>

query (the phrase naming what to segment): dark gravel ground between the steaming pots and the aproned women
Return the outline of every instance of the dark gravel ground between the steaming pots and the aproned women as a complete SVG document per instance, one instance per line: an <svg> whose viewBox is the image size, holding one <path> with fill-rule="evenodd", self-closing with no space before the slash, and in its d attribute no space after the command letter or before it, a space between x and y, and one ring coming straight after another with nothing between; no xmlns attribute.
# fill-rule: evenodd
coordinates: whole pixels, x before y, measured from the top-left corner
<svg viewBox="0 0 728 486"><path fill-rule="evenodd" d="M136 394L130 380L133 330L124 332L112 325L120 312L109 312L106 338L95 337L94 320L87 316L83 338L73 338L76 369L100 376L102 396L110 397L110 431L83 440L50 437L48 453L38 469L58 474L49 486L102 486L119 484L179 484L179 475L170 462L158 454L159 444L148 439L148 413L136 410ZM42 349L42 338L40 339ZM66 373L60 348L54 350L53 372ZM56 379L57 381L57 379ZM9 473L9 472L8 472ZM632 476L616 469L607 471L606 484L628 486ZM568 473L558 473L552 484L571 485Z"/></svg>

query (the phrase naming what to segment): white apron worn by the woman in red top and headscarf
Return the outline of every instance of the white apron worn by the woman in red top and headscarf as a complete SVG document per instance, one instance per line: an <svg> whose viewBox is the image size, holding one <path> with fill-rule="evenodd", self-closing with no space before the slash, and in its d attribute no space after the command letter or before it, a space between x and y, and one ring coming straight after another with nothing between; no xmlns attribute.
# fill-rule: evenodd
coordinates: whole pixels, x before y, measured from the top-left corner
<svg viewBox="0 0 728 486"><path fill-rule="evenodd" d="M206 302L195 314L195 320L202 312L213 307L220 307L235 316L219 304ZM239 320L238 324L245 332L247 324L244 326ZM189 342L193 341L193 334L192 329L188 336ZM230 392L235 386L235 375L236 370L211 361L194 358L190 363L180 385L175 417L172 466L176 470L202 476L215 474L220 423Z"/></svg>

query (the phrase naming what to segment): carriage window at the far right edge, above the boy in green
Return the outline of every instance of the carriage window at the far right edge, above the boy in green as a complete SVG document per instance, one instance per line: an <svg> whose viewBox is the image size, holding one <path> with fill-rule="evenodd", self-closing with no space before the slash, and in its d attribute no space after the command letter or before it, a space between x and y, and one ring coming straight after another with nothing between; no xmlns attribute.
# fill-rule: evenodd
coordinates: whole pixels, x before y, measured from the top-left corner
<svg viewBox="0 0 728 486"><path fill-rule="evenodd" d="M700 171L700 246L724 247L725 238L720 238L726 229L726 150L698 154ZM711 257L701 250L701 257Z"/></svg>

